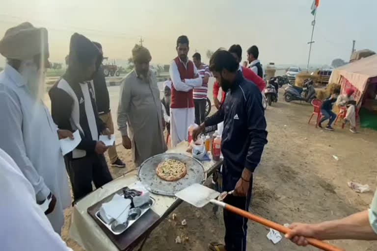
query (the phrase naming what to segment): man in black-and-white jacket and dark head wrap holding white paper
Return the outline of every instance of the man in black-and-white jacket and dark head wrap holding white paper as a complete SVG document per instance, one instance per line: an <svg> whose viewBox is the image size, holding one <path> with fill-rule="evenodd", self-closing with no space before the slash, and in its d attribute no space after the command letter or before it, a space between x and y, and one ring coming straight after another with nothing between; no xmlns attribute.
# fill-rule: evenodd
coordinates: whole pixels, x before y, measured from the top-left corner
<svg viewBox="0 0 377 251"><path fill-rule="evenodd" d="M98 48L86 37L71 37L66 73L50 89L51 113L59 129L79 130L80 144L65 155L73 196L78 200L112 180L104 152L108 149L99 135L110 130L99 118L91 83L100 56Z"/></svg>

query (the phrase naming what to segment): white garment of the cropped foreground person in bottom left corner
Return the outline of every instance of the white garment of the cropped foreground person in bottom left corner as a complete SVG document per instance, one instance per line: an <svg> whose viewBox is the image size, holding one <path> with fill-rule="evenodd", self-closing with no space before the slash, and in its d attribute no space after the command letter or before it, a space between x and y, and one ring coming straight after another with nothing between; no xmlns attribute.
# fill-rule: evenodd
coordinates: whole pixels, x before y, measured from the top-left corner
<svg viewBox="0 0 377 251"><path fill-rule="evenodd" d="M72 251L35 202L30 182L0 149L0 243L6 251Z"/></svg>

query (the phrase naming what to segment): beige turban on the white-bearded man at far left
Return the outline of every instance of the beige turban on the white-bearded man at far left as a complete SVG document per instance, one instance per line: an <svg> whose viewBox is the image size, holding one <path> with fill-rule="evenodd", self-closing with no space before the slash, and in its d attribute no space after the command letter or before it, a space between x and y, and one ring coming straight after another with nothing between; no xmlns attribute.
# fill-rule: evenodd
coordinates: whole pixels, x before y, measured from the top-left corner
<svg viewBox="0 0 377 251"><path fill-rule="evenodd" d="M27 60L35 55L49 55L49 41L46 28L36 28L22 23L9 28L0 40L0 54L6 58Z"/></svg>

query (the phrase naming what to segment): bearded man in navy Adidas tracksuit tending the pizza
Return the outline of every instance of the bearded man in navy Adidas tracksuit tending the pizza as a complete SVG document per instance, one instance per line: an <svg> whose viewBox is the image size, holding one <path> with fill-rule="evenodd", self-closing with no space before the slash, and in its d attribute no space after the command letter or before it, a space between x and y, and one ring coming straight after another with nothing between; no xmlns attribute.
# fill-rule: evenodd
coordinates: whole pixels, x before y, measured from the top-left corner
<svg viewBox="0 0 377 251"><path fill-rule="evenodd" d="M218 50L211 57L210 71L226 92L226 98L220 109L193 131L193 137L206 126L224 121L222 189L234 190L225 202L247 211L253 172L267 144L267 131L261 92L238 69L239 62L228 51ZM224 224L225 245L211 242L209 250L245 251L247 219L224 210Z"/></svg>

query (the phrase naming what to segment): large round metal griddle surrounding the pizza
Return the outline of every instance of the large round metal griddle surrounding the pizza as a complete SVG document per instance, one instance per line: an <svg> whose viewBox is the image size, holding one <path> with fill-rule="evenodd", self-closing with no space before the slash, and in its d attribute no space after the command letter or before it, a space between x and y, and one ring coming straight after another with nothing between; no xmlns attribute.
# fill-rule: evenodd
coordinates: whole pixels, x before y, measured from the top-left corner
<svg viewBox="0 0 377 251"><path fill-rule="evenodd" d="M186 164L187 174L177 181L165 181L156 175L157 166L166 159L176 159ZM206 172L200 161L182 153L162 153L146 159L137 171L137 177L152 193L174 196L182 189L194 184L202 184Z"/></svg>

